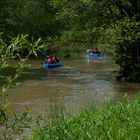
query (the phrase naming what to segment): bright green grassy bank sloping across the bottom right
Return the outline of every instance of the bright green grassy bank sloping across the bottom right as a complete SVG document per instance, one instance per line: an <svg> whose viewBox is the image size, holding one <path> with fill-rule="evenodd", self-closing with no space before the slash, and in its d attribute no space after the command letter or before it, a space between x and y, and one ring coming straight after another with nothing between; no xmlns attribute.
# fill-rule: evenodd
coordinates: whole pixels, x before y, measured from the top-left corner
<svg viewBox="0 0 140 140"><path fill-rule="evenodd" d="M140 139L140 96L123 99L71 118L56 117L33 130L28 140Z"/></svg>

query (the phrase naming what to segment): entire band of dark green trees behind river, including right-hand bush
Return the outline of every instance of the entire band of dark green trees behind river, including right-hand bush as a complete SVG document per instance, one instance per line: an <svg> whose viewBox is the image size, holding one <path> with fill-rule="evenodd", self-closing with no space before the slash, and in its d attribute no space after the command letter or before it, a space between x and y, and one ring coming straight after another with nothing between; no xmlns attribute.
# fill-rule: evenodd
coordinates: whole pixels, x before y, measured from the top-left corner
<svg viewBox="0 0 140 140"><path fill-rule="evenodd" d="M29 34L47 42L57 37L63 46L100 47L116 56L118 78L140 80L139 0L1 0L0 13L5 39Z"/></svg>

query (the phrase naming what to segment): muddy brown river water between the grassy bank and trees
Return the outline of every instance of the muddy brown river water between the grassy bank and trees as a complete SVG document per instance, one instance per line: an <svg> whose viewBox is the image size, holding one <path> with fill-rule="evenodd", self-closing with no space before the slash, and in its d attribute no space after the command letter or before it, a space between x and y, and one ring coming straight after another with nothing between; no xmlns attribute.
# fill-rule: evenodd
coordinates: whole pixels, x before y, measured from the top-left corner
<svg viewBox="0 0 140 140"><path fill-rule="evenodd" d="M42 60L29 60L31 69L24 72L19 85L8 93L9 111L23 112L25 107L33 114L49 113L52 107L62 107L67 113L79 113L108 100L136 95L140 84L117 82L116 66L108 58L62 60L63 67L45 71Z"/></svg>

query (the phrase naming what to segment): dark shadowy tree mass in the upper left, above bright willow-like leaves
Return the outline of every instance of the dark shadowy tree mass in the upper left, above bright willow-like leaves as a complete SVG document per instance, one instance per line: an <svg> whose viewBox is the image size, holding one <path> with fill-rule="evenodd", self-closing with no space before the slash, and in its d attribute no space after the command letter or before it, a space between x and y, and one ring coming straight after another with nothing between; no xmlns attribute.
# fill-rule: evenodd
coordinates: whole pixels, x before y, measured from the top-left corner
<svg viewBox="0 0 140 140"><path fill-rule="evenodd" d="M60 22L51 0L3 0L1 3L0 32L30 34L46 37L59 34Z"/></svg>

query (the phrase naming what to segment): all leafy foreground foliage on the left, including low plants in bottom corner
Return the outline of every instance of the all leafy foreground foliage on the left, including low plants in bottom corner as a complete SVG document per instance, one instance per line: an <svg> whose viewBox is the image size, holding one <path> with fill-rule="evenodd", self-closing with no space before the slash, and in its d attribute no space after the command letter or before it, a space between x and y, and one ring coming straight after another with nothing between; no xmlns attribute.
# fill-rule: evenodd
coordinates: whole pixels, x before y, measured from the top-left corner
<svg viewBox="0 0 140 140"><path fill-rule="evenodd" d="M21 77L24 69L28 66L29 56L36 55L36 51L44 47L41 39L29 42L27 37L27 35L18 35L8 43L0 38L0 124L2 127L1 138L3 139L20 134L23 129L29 127L31 121L28 111L22 115L11 116L7 112L9 106L7 90L16 85L16 80ZM25 50L28 51L25 53ZM18 59L18 62L13 66L12 61L15 59ZM11 69L14 71L13 73L10 72Z"/></svg>

